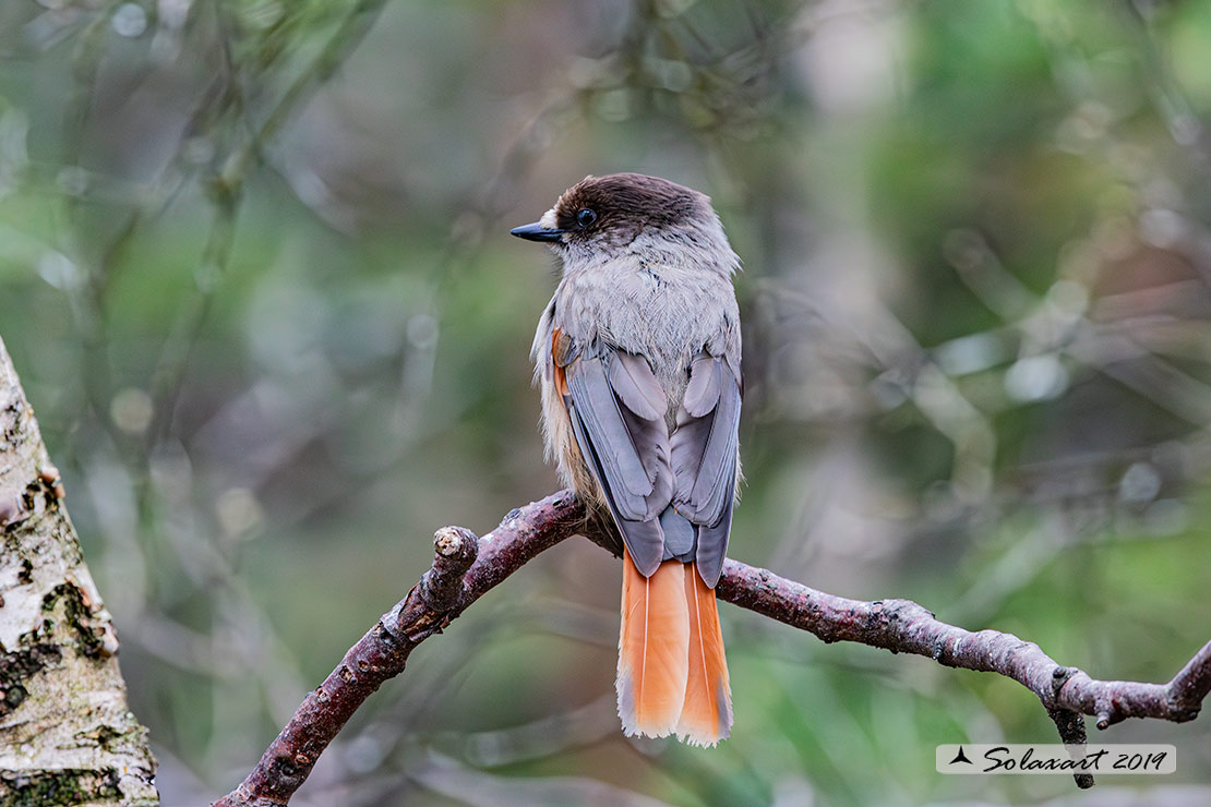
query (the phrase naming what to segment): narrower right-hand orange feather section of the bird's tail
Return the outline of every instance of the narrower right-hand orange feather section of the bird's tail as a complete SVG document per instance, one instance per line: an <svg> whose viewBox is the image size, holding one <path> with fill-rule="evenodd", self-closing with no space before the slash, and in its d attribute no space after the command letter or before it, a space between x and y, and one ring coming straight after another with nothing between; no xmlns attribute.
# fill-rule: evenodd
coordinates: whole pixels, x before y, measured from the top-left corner
<svg viewBox="0 0 1211 807"><path fill-rule="evenodd" d="M689 607L689 678L677 736L693 745L714 745L731 731L731 686L723 653L719 609L695 564L685 564Z"/></svg>

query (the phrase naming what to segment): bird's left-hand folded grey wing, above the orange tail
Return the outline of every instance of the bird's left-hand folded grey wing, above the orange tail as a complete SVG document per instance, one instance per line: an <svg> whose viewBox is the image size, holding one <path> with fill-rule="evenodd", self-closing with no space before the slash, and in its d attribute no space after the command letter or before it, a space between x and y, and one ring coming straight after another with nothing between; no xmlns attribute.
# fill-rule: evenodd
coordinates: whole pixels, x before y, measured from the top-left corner
<svg viewBox="0 0 1211 807"><path fill-rule="evenodd" d="M564 405L639 573L664 559L660 515L673 496L667 399L647 359L595 345L563 368Z"/></svg>

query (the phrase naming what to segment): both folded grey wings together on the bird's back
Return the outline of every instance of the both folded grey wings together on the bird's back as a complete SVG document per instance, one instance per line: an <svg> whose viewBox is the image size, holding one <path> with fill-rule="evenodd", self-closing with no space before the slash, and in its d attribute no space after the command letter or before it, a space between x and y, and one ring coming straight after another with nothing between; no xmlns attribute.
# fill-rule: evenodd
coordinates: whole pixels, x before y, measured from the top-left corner
<svg viewBox="0 0 1211 807"><path fill-rule="evenodd" d="M735 363L705 351L693 359L670 434L667 398L643 357L557 339L552 358L576 443L636 567L647 577L661 560L696 561L713 588L736 488Z"/></svg>

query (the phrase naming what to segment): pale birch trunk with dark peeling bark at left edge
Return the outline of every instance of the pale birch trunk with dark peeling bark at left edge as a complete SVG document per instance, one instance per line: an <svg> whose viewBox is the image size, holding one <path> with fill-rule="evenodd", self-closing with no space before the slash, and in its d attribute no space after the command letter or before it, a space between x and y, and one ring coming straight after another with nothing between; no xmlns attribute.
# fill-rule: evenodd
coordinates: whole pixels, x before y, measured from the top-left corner
<svg viewBox="0 0 1211 807"><path fill-rule="evenodd" d="M159 805L63 483L0 341L0 806Z"/></svg>

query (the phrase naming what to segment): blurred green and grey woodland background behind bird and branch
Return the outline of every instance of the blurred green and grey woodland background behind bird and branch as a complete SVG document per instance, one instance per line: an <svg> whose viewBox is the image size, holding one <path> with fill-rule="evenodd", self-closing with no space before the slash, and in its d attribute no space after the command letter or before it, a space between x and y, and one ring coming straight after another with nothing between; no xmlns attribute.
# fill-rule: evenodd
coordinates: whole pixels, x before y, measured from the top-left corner
<svg viewBox="0 0 1211 807"><path fill-rule="evenodd" d="M429 565L557 486L510 238L587 173L710 194L744 258L733 557L1165 681L1211 635L1211 4L7 0L0 334L151 732L205 803ZM722 607L717 750L624 738L620 570L546 553L295 797L1205 805L940 777L1056 742L993 675ZM1091 724L1092 721L1090 721Z"/></svg>

